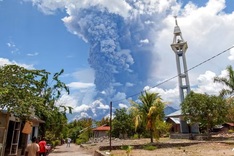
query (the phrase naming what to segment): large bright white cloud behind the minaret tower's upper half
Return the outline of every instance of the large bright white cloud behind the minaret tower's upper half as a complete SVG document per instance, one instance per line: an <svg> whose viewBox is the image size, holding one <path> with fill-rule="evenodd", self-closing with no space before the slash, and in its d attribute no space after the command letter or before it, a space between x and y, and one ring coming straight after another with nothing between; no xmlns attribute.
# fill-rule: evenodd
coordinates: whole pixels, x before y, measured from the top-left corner
<svg viewBox="0 0 234 156"><path fill-rule="evenodd" d="M234 36L234 12L226 14L222 12L225 7L224 0L210 0L205 6L198 7L195 4L186 4L185 9L180 9L177 18L185 41L188 43L186 52L188 69L213 57L233 45ZM163 21L164 27L153 36L155 39L155 59L160 57L160 62L152 64L151 77L167 79L177 75L176 58L170 45L173 40L175 20L173 14ZM232 58L232 50L231 56ZM158 56L159 55L159 56ZM201 66L189 71L191 83L196 81L200 73L207 70L220 72L230 62L228 54L219 55ZM157 68L155 68L157 67Z"/></svg>

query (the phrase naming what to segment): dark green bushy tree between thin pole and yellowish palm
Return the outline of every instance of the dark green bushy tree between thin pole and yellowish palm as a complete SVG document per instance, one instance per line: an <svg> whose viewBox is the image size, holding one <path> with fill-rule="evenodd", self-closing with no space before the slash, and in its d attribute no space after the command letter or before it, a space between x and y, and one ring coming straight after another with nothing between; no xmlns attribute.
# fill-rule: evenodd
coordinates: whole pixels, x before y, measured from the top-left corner
<svg viewBox="0 0 234 156"><path fill-rule="evenodd" d="M134 124L132 122L131 114L127 113L127 109L116 109L114 116L115 117L112 122L112 134L115 137L119 137L120 135L125 137L125 134L132 136L134 131Z"/></svg>

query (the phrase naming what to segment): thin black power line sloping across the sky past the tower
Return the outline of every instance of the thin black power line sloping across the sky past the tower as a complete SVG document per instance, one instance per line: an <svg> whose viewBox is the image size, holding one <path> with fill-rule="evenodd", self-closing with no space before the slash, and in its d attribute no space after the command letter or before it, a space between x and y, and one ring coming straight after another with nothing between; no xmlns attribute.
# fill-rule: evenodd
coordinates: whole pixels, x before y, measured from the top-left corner
<svg viewBox="0 0 234 156"><path fill-rule="evenodd" d="M214 55L214 56L212 56L212 57L210 57L210 58L208 58L208 59L202 61L201 63L199 63L199 64L197 64L197 65L195 65L195 66L189 68L187 71L185 71L185 73L187 73L187 72L189 72L189 71L191 71L191 70L193 70L193 69L195 69L195 68L201 66L202 64L204 64L204 63L206 63L206 62L211 61L212 59L218 57L219 55L222 55L222 54L226 53L227 51L231 50L232 48L234 48L234 45L231 46L231 47L229 47L229 48L227 48L226 50L224 50L224 51L222 51L222 52L220 52L220 53L218 53L218 54L216 54L216 55ZM153 88L158 87L158 86L161 86L162 84L164 84L164 83L166 83L166 82L168 82L168 81L171 81L172 79L174 79L174 78L176 78L176 77L178 77L178 76L179 76L179 75L177 74L177 75L175 75L175 76L173 76L173 77L171 77L171 78L168 78L168 79L166 79L166 80L164 80L164 81L162 81L162 82L156 84L155 86L153 86ZM148 90L149 90L149 89L148 89ZM141 91L141 92L142 92L142 91ZM135 97L135 96L137 96L137 95L140 95L141 92L138 92L138 93L135 93L135 94L133 94L133 95L130 95L130 96L126 97L125 99L120 99L120 100L116 100L116 101L112 101L112 102L113 102L113 103L116 103L116 102L120 102L120 101L126 100L126 99L131 98L131 97Z"/></svg>

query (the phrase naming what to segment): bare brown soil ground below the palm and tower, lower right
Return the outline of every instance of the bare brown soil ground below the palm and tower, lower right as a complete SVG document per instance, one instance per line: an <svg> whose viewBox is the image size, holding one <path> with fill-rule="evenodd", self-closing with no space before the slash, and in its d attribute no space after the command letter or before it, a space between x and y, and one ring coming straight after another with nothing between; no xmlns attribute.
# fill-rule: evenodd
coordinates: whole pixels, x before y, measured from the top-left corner
<svg viewBox="0 0 234 156"><path fill-rule="evenodd" d="M209 141L197 141L188 139L161 138L152 144L155 150L144 150L143 146L149 144L150 139L114 139L112 140L111 154L114 156L125 156L126 151L121 150L123 145L134 146L130 152L131 156L234 156L234 138L230 136L213 136ZM109 140L105 139L97 143L83 144L84 150L94 153L95 150L109 151ZM116 147L116 148L115 148Z"/></svg>

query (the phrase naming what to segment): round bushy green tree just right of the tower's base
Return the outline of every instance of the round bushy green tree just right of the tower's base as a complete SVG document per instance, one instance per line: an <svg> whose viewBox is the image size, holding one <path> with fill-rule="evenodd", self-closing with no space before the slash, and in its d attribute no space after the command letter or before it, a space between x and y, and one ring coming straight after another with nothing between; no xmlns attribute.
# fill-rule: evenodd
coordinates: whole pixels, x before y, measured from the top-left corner
<svg viewBox="0 0 234 156"><path fill-rule="evenodd" d="M188 122L199 123L209 134L211 128L225 121L227 105L220 96L191 91L181 104L182 114Z"/></svg>

